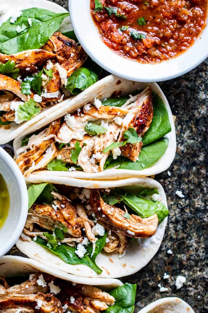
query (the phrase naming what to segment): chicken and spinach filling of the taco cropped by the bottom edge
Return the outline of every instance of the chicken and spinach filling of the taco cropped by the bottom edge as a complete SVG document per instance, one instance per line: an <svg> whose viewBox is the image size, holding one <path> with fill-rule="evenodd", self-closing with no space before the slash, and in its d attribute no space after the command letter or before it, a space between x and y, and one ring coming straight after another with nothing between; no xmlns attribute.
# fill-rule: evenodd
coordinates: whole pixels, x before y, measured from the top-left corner
<svg viewBox="0 0 208 313"><path fill-rule="evenodd" d="M45 273L31 274L28 280L12 287L4 278L0 280L0 313L99 313L108 311L109 307L111 312L134 310L136 285L128 283L105 292Z"/></svg>

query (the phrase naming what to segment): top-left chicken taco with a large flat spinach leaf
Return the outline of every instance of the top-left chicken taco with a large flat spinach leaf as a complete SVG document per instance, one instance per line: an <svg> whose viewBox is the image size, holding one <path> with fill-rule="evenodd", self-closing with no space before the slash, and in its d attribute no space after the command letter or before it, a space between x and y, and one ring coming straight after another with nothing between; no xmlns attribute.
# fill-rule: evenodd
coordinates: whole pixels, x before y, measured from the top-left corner
<svg viewBox="0 0 208 313"><path fill-rule="evenodd" d="M99 73L74 32L61 32L65 9L48 1L39 8L15 7L0 23L0 144L70 102Z"/></svg>

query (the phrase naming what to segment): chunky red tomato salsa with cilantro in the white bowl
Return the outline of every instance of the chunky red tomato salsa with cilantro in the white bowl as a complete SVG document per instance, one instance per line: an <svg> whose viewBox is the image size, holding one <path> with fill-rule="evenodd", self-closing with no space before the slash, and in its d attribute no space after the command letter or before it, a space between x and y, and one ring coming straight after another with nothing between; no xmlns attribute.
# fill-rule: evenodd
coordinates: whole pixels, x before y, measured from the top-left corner
<svg viewBox="0 0 208 313"><path fill-rule="evenodd" d="M207 0L91 0L104 43L142 63L186 51L206 25Z"/></svg>

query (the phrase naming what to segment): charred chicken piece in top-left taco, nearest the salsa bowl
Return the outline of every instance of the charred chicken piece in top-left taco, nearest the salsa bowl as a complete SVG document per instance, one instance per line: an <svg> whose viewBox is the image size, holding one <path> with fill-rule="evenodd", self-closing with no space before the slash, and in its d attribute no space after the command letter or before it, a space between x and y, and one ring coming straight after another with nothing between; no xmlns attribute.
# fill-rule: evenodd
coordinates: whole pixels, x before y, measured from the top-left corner
<svg viewBox="0 0 208 313"><path fill-rule="evenodd" d="M62 77L69 77L87 59L87 54L80 45L59 32L52 35L47 44L43 46L43 49L51 51L52 46L59 63L54 65L53 77L45 87L47 92L50 93L58 91L61 85L64 84ZM54 98L45 99L45 103L54 100Z"/></svg>

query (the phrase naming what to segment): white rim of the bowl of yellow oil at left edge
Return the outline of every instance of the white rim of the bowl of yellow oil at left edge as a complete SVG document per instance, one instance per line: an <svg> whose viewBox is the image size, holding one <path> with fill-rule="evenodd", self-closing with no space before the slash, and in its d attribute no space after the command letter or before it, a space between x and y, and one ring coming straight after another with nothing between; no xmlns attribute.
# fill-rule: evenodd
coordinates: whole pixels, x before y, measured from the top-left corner
<svg viewBox="0 0 208 313"><path fill-rule="evenodd" d="M17 166L17 164L14 162L12 157L2 148L0 147L0 158L7 164L7 166L11 169L12 173L15 176L15 179L17 181L17 184L20 189L20 194L19 197L21 199L21 206L20 206L20 215L18 218L18 223L12 233L12 236L9 238L9 240L3 244L0 247L0 257L5 255L11 248L12 246L17 242L20 234L22 233L22 229L25 226L25 222L27 219L27 212L28 212L28 195L27 195L27 186L26 182L24 180L24 177L22 176L22 173ZM5 177L4 177L5 179ZM5 179L6 181L6 179ZM10 193L10 197L11 197ZM9 213L7 218L9 217Z"/></svg>

